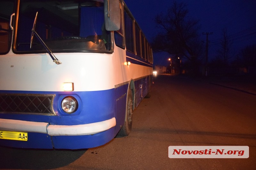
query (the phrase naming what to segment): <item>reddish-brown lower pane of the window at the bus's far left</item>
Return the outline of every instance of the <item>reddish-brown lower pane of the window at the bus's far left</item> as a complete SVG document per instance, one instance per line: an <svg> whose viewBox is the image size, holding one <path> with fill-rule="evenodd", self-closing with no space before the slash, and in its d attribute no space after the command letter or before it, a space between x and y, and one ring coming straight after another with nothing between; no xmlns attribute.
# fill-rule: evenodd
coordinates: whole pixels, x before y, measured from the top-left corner
<svg viewBox="0 0 256 170"><path fill-rule="evenodd" d="M0 53L7 53L10 44L10 30L8 22L0 22Z"/></svg>

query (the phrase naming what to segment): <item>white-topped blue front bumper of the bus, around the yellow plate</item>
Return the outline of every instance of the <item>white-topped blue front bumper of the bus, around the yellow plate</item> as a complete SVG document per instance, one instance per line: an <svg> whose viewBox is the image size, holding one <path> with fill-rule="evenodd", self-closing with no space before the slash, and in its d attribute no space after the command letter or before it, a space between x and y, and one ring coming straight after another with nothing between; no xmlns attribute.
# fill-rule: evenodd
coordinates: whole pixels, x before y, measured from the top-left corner
<svg viewBox="0 0 256 170"><path fill-rule="evenodd" d="M116 118L80 125L51 125L0 119L0 131L28 132L28 140L1 139L0 145L37 149L85 149L108 143L115 137Z"/></svg>

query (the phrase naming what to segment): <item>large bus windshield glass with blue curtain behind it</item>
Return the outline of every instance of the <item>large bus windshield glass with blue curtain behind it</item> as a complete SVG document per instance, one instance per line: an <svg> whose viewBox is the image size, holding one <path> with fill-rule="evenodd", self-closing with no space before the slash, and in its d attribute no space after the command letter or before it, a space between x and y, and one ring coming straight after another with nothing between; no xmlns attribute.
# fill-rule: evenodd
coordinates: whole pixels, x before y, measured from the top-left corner
<svg viewBox="0 0 256 170"><path fill-rule="evenodd" d="M103 0L21 0L15 51L45 52L36 37L30 48L36 12L35 31L52 52L112 49Z"/></svg>

